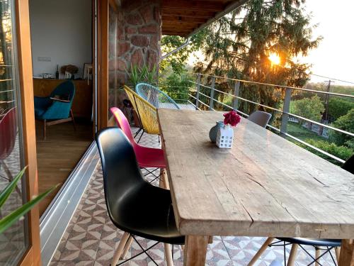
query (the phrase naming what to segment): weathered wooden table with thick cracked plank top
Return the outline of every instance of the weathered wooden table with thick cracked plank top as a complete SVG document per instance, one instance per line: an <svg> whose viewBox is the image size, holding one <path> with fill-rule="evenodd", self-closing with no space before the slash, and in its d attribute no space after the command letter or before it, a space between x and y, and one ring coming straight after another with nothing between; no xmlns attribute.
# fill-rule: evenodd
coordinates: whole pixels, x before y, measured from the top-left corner
<svg viewBox="0 0 354 266"><path fill-rule="evenodd" d="M159 109L184 265L204 265L208 235L339 238L354 265L354 175L241 119L231 150L210 143L222 113Z"/></svg>

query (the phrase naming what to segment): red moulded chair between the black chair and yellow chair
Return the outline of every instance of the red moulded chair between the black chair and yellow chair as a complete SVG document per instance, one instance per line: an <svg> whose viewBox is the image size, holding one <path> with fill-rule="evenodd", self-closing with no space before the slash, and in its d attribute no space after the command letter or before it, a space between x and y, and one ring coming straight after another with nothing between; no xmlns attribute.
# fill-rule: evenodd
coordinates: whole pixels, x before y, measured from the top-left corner
<svg viewBox="0 0 354 266"><path fill-rule="evenodd" d="M129 122L127 121L127 118L125 117L124 113L122 113L122 111L120 111L120 109L118 109L117 107L112 107L110 111L115 116L115 121L117 122L118 127L122 129L127 138L130 140L130 143L132 143L139 167L144 168L145 170L147 170L147 167L156 168L152 171L147 170L148 174L154 174L154 171L159 168L166 168L164 150L158 148L148 148L137 144L132 135ZM159 176L156 176L155 174L154 176L156 178L159 178Z"/></svg>

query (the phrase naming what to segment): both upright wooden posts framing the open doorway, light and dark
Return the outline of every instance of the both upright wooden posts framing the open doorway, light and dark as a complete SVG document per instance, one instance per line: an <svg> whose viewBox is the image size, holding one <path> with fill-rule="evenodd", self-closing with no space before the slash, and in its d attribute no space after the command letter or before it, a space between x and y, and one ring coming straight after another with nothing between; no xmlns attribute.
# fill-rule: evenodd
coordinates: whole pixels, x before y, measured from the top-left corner
<svg viewBox="0 0 354 266"><path fill-rule="evenodd" d="M21 114L23 128L23 157L28 168L25 172L27 199L38 195L37 151L35 142L35 112L33 95L32 52L30 43L29 0L15 1L16 38L18 50L18 72L21 92ZM93 0L97 5L96 33L93 30L94 116L97 130L108 125L108 16L109 0ZM93 15L94 18L94 15ZM93 24L93 28L95 24ZM93 39L95 40L95 39ZM96 98L95 98L96 97ZM96 119L95 119L96 118ZM96 126L93 126L94 131ZM40 260L40 216L38 206L28 213L28 250L19 265L41 265Z"/></svg>

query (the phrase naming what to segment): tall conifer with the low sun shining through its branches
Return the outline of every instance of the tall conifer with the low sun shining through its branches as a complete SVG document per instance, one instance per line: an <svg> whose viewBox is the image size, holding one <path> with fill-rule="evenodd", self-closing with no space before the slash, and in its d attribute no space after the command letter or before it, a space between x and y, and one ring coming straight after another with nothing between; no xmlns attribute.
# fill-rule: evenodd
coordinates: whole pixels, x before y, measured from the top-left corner
<svg viewBox="0 0 354 266"><path fill-rule="evenodd" d="M294 58L307 55L321 38L312 38L310 17L302 8L304 0L250 0L229 16L213 23L202 42L207 65L196 72L247 79L256 82L302 87L309 80L309 65ZM274 65L269 56L280 57ZM232 92L232 87L229 88ZM247 85L241 89L246 99L278 107L282 89ZM241 102L251 112L253 104Z"/></svg>

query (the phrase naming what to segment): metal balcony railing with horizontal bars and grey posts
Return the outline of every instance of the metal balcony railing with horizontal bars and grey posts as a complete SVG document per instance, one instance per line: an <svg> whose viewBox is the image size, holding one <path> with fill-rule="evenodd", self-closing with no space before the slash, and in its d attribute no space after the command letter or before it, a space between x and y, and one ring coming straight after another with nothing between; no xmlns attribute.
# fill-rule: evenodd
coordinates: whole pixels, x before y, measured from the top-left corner
<svg viewBox="0 0 354 266"><path fill-rule="evenodd" d="M317 126L320 126L322 128L328 128L329 130L336 131L338 133L342 133L345 135L349 135L350 137L354 137L354 133L348 132L348 131L343 131L340 128L335 128L333 126L329 126L326 123L321 123L319 121L314 121L309 118L299 116L295 113L290 113L290 101L292 99L292 91L299 90L302 92L310 92L313 94L326 94L326 95L332 95L332 96L341 96L341 97L346 97L350 99L354 99L354 95L349 95L349 94L339 94L335 92L323 92L323 91L317 91L314 89L304 89L304 88L298 88L298 87L289 87L289 86L283 86L283 85L277 85L277 84L267 84L267 83L261 83L261 82L251 82L247 80L242 80L242 79L232 79L229 77L219 77L215 75L207 75L207 74L200 74L200 73L193 73L195 75L195 80L190 80L190 87L183 87L186 90L188 89L188 93L181 93L177 92L177 94L184 94L184 96L187 96L188 99L177 99L179 102L185 102L185 104L189 104L190 106L193 106L195 109L201 110L201 109L207 109L207 110L212 110L212 111L217 111L215 110L215 103L223 106L225 109L229 110L235 110L238 113L240 113L244 117L248 117L249 113L244 113L243 111L239 110L239 102L244 101L249 104L254 104L256 106L262 106L263 109L268 109L271 111L274 111L275 113L280 113L280 127L272 126L268 124L268 129L271 129L277 133L280 133L282 137L288 137L291 138L292 140L296 140L298 143L302 143L303 145L312 148L313 150L316 150L317 152L326 155L328 157L331 157L332 159L338 161L338 162L345 162L341 158L336 157L335 155L332 155L330 153L327 153L324 150L321 150L314 145L311 145L310 143L307 143L305 140L301 140L294 135L291 135L290 133L287 132L287 124L290 121L290 118L297 118L302 121L306 121L308 123L315 124ZM203 79L208 79L208 84L203 84L205 82L202 82ZM215 88L215 80L216 79L223 79L227 81L227 84L234 84L234 93L231 94L229 92L222 92L219 89ZM242 98L240 95L240 88L242 84L252 84L252 85L257 85L258 88L260 86L263 87L274 87L276 89L282 89L285 91L283 93L284 96L278 97L278 101L282 102L282 109L276 109L272 106L267 106L265 104L261 104L256 101L251 101L250 99L245 99ZM205 89L202 89L205 88ZM224 96L228 96L232 98L232 106L225 104L222 101L219 101L215 97L215 92L219 94L224 94ZM183 98L183 97L181 97ZM184 97L185 98L185 97ZM204 99L204 101L202 100Z"/></svg>

